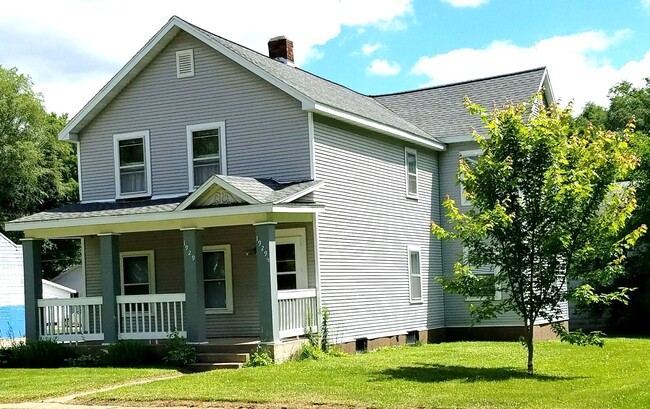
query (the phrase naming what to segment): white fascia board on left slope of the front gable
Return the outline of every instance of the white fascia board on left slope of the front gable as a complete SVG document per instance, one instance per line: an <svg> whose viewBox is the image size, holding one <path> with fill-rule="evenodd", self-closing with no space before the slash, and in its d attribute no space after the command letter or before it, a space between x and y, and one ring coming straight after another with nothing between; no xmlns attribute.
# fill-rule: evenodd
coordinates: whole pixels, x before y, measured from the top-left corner
<svg viewBox="0 0 650 409"><path fill-rule="evenodd" d="M79 140L78 132L80 129L77 127L88 117L93 115L93 112L96 108L103 108L105 105L102 103L108 103L111 96L116 96L122 88L118 88L123 81L130 81L132 77L135 77L140 71L134 72L134 69L154 50L162 50L162 48L170 41L178 32L174 30L175 27L178 27L178 19L176 17L170 19L167 24L165 24L158 32L138 51L133 58L129 60L128 63L113 78L111 78L104 87L99 90L99 92L75 115L70 122L59 132L59 139L62 141L77 141ZM167 39L167 42L162 43L164 39ZM154 54L157 54L155 52ZM151 58L153 59L153 57ZM151 60L150 59L150 60ZM149 61L150 61L149 60ZM149 62L147 61L147 63ZM99 112L97 112L99 113ZM94 115L93 115L94 116ZM92 118L91 118L92 119Z"/></svg>

